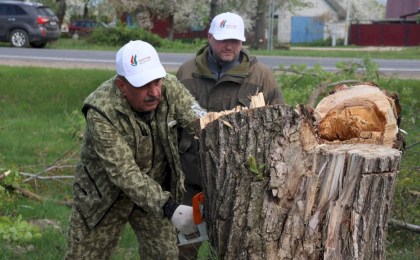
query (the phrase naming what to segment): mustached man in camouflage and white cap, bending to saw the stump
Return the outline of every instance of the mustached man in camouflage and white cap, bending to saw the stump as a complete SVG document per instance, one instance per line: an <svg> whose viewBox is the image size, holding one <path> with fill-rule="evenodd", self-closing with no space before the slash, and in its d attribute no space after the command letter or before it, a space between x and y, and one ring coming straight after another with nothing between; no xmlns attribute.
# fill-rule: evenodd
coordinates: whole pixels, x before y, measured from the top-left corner
<svg viewBox="0 0 420 260"><path fill-rule="evenodd" d="M175 227L196 232L184 191L177 126L192 134L205 111L156 50L131 41L117 75L84 102L87 127L73 184L66 259L109 259L128 222L142 260L177 259Z"/></svg>

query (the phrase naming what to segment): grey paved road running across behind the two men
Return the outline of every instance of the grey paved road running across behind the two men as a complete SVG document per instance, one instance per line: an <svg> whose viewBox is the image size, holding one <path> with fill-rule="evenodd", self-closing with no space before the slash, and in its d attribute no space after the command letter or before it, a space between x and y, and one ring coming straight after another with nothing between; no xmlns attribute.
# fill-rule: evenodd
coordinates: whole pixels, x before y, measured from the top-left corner
<svg viewBox="0 0 420 260"><path fill-rule="evenodd" d="M176 71L193 54L160 53L160 59L169 71ZM334 71L340 61L361 63L361 59L351 58L311 58L286 56L258 56L259 60L271 68L283 64L307 64L312 67L320 64L325 70ZM33 48L0 48L0 64L12 66L47 66L114 69L115 52L113 51L83 51ZM379 65L379 70L386 74L398 74L404 77L420 78L420 59L418 60L385 60L373 59Z"/></svg>

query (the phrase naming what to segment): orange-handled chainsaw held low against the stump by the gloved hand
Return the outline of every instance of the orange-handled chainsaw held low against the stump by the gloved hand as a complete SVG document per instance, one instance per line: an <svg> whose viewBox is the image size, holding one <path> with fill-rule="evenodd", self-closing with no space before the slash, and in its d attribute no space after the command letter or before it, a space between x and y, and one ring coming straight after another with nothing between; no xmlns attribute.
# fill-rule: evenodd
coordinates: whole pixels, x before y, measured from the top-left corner
<svg viewBox="0 0 420 260"><path fill-rule="evenodd" d="M181 232L178 233L179 246L194 244L208 240L207 226L203 219L204 209L204 195L202 192L194 195L192 200L194 224L197 225L198 232L190 235L184 235Z"/></svg>

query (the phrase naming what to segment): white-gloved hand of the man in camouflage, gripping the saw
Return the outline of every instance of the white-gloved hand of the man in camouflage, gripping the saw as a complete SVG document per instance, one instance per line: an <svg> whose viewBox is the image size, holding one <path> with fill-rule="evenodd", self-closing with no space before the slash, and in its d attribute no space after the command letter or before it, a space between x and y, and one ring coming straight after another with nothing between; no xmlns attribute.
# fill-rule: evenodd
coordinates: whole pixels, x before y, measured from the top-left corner
<svg viewBox="0 0 420 260"><path fill-rule="evenodd" d="M190 206L179 205L171 217L171 221L182 234L189 235L198 231L194 224L193 209Z"/></svg>

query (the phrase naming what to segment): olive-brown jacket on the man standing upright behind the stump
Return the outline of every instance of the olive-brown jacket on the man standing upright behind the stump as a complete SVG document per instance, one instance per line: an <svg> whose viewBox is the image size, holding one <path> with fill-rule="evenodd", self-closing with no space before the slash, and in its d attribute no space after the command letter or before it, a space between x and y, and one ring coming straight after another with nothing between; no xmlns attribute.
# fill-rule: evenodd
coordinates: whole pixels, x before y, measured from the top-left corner
<svg viewBox="0 0 420 260"><path fill-rule="evenodd" d="M238 66L215 79L207 62L209 48L198 51L196 57L185 62L176 74L201 107L216 112L238 105L249 107L250 96L259 92L264 94L266 104L284 103L272 70L245 50L241 51L242 61Z"/></svg>

